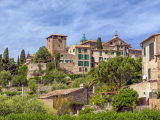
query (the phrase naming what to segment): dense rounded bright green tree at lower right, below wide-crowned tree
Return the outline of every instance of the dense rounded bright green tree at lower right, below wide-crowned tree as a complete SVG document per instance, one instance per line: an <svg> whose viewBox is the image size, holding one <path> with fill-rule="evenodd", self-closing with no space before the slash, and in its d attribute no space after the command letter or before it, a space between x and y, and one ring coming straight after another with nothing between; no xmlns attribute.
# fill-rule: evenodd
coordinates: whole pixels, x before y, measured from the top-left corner
<svg viewBox="0 0 160 120"><path fill-rule="evenodd" d="M138 96L138 92L133 89L121 89L120 92L113 97L111 105L115 110L120 110L122 107L133 106L133 103L139 104Z"/></svg>

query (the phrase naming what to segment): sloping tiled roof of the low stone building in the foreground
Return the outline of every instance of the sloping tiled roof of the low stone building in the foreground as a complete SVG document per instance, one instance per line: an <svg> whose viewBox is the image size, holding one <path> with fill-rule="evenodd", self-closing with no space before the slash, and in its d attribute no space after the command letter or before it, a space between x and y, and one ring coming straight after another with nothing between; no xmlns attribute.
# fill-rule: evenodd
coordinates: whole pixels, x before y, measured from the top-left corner
<svg viewBox="0 0 160 120"><path fill-rule="evenodd" d="M71 88L71 89L62 89L62 90L54 90L52 92L46 93L44 95L40 95L40 98L48 98L51 96L58 96L58 95L66 95L69 94L71 92L75 92L78 90L81 90L83 88Z"/></svg>

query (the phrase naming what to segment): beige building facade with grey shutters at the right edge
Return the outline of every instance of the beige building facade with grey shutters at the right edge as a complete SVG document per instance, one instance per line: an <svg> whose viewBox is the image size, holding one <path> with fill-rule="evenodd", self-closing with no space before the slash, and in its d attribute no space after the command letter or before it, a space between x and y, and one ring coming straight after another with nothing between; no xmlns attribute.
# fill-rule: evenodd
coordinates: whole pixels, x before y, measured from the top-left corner
<svg viewBox="0 0 160 120"><path fill-rule="evenodd" d="M142 74L144 81L158 81L160 89L160 34L154 34L141 42Z"/></svg>

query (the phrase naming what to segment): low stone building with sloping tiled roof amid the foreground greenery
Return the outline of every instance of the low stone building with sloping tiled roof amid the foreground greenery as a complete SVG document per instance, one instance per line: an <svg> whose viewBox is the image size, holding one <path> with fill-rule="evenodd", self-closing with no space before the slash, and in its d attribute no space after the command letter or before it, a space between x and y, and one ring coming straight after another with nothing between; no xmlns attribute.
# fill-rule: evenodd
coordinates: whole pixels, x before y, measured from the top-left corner
<svg viewBox="0 0 160 120"><path fill-rule="evenodd" d="M73 106L71 106L72 112L77 112L77 110L80 110L83 105L89 104L89 99L94 94L90 91L88 91L85 88L84 84L80 84L79 88L70 88L70 89L62 89L62 90L54 90L52 92L40 95L39 99L44 101L45 104L47 104L49 107L53 108L53 99L62 96L63 98L68 98L69 96L73 96L73 103L81 103L82 105L78 105L73 109ZM72 104L73 105L73 104Z"/></svg>

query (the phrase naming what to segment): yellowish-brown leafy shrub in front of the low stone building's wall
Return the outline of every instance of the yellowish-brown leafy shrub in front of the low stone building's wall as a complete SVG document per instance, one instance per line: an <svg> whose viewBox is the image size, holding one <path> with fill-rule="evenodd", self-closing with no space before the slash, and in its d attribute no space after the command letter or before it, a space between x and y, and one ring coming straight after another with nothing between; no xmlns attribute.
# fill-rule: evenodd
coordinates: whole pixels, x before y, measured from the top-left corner
<svg viewBox="0 0 160 120"><path fill-rule="evenodd" d="M69 96L67 99L62 96L53 99L53 108L57 110L57 115L63 115L69 113L70 104L73 102L73 96Z"/></svg>

